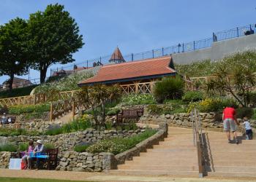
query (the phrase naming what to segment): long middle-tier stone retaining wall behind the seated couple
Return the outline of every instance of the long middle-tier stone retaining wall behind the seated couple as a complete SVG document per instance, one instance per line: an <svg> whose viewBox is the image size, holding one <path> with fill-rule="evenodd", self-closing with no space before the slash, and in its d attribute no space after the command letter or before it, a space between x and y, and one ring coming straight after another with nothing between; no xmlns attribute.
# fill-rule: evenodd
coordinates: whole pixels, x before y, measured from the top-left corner
<svg viewBox="0 0 256 182"><path fill-rule="evenodd" d="M55 147L59 147L59 151L70 151L73 150L74 147L79 143L95 143L97 141L101 141L106 138L113 137L127 137L130 135L137 135L141 132L144 132L144 129L138 130L94 130L88 129L79 132L70 132L67 134L60 135L41 135L41 136L14 136L14 137L1 137L0 141L4 141L4 143L13 143L15 145L19 145L22 142L28 142L30 140L37 141L42 140L43 143L52 143ZM2 143L3 144L3 143Z"/></svg>

